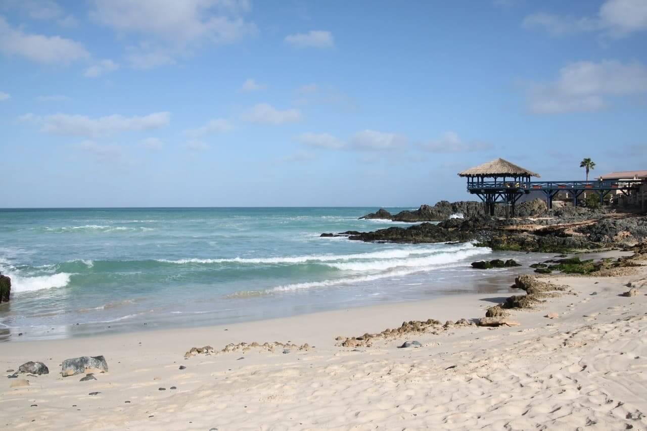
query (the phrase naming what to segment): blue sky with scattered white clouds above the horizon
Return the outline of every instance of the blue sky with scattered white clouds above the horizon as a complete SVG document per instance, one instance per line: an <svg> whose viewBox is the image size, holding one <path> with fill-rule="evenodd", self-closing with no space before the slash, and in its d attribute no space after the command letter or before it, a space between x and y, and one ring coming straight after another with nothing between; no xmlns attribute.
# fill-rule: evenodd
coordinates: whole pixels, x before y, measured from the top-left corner
<svg viewBox="0 0 647 431"><path fill-rule="evenodd" d="M0 0L0 207L418 206L647 169L647 0Z"/></svg>

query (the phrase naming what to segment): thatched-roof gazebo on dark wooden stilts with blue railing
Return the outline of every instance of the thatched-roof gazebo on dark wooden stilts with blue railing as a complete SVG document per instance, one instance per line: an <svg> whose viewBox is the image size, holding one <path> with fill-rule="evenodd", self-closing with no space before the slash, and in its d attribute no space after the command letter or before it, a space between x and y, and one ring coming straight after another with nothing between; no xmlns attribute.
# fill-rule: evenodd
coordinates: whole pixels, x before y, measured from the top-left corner
<svg viewBox="0 0 647 431"><path fill-rule="evenodd" d="M494 204L497 202L505 203L506 215L509 215L510 207L514 216L514 204L521 196L530 193L531 177L540 177L538 173L504 159L479 164L458 175L467 178L467 191L481 198L486 212L491 216L494 216ZM492 181L485 181L486 178Z"/></svg>

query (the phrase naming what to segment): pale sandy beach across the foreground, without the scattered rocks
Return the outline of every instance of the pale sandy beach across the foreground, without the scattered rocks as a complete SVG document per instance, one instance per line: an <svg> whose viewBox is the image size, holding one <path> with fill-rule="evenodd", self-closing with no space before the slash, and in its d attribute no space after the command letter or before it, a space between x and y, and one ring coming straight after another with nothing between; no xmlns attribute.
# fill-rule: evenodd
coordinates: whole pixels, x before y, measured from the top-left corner
<svg viewBox="0 0 647 431"><path fill-rule="evenodd" d="M619 296L628 290L625 283L644 277L644 271L619 278L553 277L576 295L514 312L520 327L457 328L358 351L334 346L334 338L375 333L403 320L479 318L500 295L4 343L0 371L38 360L50 373L0 377L0 428L645 430L647 287L639 296ZM549 312L559 317L545 318ZM422 347L398 349L405 340ZM243 341L315 347L183 357L193 346L219 350ZM105 355L109 372L87 382L79 381L82 375L61 377L61 361L80 355ZM10 388L22 379L29 386Z"/></svg>

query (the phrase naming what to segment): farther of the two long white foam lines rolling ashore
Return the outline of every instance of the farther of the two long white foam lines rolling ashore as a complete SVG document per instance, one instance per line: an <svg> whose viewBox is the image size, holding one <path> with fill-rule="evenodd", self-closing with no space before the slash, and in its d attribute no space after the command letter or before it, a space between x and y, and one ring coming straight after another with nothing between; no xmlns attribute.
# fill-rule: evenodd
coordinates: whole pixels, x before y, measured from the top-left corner
<svg viewBox="0 0 647 431"><path fill-rule="evenodd" d="M188 258L178 260L158 259L158 262L164 263L306 263L306 262L334 262L344 260L362 260L362 259L393 259L407 258L416 254L432 254L439 252L458 252L460 250L474 249L471 243L462 243L458 245L438 244L435 247L411 248L411 249L389 249L377 252L356 253L356 254L313 254L307 256L287 256L279 258L231 258L231 259L199 259Z"/></svg>

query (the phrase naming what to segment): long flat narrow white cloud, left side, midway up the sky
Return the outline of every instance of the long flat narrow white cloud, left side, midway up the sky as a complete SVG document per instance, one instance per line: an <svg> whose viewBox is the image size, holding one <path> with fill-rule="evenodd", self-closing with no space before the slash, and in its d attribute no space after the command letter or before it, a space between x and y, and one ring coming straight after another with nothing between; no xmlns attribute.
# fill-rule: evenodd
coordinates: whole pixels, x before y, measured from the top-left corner
<svg viewBox="0 0 647 431"><path fill-rule="evenodd" d="M159 129L169 123L170 116L168 112L129 117L115 114L99 118L68 114L45 116L26 114L19 117L19 120L38 124L41 126L43 133L51 133L52 135L98 137L120 131Z"/></svg>

